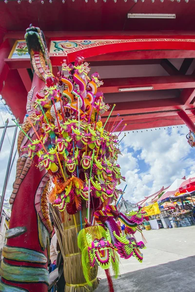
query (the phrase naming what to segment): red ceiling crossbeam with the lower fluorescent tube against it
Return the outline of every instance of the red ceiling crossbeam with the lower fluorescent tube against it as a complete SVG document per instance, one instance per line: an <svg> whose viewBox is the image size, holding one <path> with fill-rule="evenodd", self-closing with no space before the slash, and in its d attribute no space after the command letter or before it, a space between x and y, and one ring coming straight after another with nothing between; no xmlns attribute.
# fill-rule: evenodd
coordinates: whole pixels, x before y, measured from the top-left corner
<svg viewBox="0 0 195 292"><path fill-rule="evenodd" d="M155 76L103 79L104 84L99 88L103 93L118 92L121 88L152 86L154 90L195 88L195 76Z"/></svg>

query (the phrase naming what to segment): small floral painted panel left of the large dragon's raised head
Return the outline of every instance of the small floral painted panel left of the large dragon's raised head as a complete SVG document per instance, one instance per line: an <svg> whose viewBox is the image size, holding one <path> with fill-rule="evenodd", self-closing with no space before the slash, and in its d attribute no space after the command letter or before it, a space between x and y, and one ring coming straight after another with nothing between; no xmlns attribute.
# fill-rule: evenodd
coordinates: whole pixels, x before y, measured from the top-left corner
<svg viewBox="0 0 195 292"><path fill-rule="evenodd" d="M12 51L8 57L9 59L28 59L30 55L28 54L28 48L25 40L16 40Z"/></svg>

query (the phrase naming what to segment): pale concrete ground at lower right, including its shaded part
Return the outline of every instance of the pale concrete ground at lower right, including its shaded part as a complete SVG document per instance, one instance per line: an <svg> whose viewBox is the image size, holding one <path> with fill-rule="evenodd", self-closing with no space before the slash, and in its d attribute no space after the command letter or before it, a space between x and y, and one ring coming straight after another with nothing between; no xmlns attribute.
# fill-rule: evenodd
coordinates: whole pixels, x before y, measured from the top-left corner
<svg viewBox="0 0 195 292"><path fill-rule="evenodd" d="M148 243L143 262L120 261L115 292L195 292L195 226L143 231ZM137 234L137 241L141 240ZM108 292L105 273L96 292Z"/></svg>

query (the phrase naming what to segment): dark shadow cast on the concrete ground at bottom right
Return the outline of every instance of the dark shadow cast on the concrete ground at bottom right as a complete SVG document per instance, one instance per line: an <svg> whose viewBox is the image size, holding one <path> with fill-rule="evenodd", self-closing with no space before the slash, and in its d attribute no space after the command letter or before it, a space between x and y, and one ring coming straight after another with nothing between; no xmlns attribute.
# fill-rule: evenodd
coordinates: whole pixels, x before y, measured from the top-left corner
<svg viewBox="0 0 195 292"><path fill-rule="evenodd" d="M113 278L115 292L195 292L195 256ZM108 292L100 280L96 292Z"/></svg>

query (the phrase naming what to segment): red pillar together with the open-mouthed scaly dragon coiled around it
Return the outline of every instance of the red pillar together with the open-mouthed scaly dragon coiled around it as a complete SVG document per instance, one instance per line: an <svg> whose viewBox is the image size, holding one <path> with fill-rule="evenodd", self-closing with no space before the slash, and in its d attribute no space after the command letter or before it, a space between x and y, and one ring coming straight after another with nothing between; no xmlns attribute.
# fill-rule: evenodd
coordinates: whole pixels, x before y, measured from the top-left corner
<svg viewBox="0 0 195 292"><path fill-rule="evenodd" d="M36 91L45 86L45 74L48 67L50 71L52 67L42 31L31 25L26 30L25 39L34 71L26 112L32 124L35 124L37 115L32 105ZM21 128L29 137L36 139L29 119L24 118ZM39 123L34 127L39 131ZM48 202L50 180L46 169L39 171L36 167L37 157L32 160L27 153L21 152L20 149L28 143L27 137L20 130L16 180L10 197L12 205L10 229L6 233L7 244L2 251L4 258L0 267L1 292L48 291L47 263L49 234L52 231Z"/></svg>

